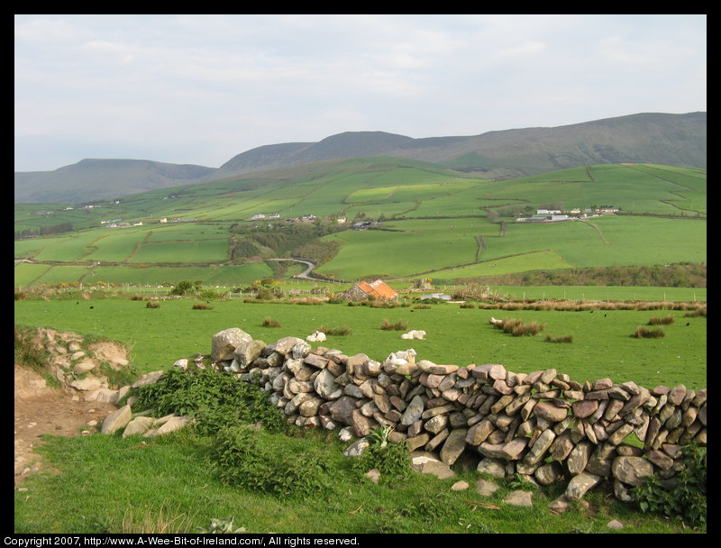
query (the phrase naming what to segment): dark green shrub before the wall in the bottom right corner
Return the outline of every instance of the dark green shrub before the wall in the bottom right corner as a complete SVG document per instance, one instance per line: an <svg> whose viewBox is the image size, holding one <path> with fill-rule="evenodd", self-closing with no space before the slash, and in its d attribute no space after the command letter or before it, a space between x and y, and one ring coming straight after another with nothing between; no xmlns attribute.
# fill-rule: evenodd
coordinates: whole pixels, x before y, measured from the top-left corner
<svg viewBox="0 0 721 548"><path fill-rule="evenodd" d="M643 479L631 490L631 496L642 512L680 516L693 526L706 526L707 458L706 447L691 442L682 449L683 469L671 479L656 474Z"/></svg>

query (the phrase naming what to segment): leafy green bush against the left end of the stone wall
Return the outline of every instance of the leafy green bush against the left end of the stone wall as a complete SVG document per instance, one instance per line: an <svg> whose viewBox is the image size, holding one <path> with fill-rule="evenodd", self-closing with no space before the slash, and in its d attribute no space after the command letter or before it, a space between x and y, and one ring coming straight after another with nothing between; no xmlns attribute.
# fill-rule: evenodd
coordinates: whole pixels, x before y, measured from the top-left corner
<svg viewBox="0 0 721 548"><path fill-rule="evenodd" d="M135 388L138 410L154 409L158 416L193 416L201 434L228 425L262 423L284 431L282 411L269 403L268 393L251 383L213 369L167 370L157 382Z"/></svg>

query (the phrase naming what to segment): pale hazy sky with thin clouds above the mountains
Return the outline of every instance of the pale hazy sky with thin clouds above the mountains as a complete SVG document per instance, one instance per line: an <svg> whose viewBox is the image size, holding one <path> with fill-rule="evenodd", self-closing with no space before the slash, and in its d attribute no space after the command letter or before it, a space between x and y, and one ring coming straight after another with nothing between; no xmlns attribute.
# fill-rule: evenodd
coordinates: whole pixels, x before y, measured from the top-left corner
<svg viewBox="0 0 721 548"><path fill-rule="evenodd" d="M15 170L706 111L707 16L15 15Z"/></svg>

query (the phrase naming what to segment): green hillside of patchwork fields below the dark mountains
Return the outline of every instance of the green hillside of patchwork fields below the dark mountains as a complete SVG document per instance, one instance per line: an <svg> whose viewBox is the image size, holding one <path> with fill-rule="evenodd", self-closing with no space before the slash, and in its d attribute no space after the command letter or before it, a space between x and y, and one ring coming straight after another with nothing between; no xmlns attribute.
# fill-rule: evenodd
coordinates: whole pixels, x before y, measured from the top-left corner
<svg viewBox="0 0 721 548"><path fill-rule="evenodd" d="M15 286L176 282L190 273L242 284L272 275L262 260L274 256L322 260L320 274L346 282L703 263L706 195L705 169L651 164L494 181L414 160L318 162L86 208L16 205L16 235L73 230L16 240L15 259L32 263L16 264ZM516 222L538 208L603 205L617 211ZM287 222L304 215L307 223ZM351 230L360 221L370 230Z"/></svg>

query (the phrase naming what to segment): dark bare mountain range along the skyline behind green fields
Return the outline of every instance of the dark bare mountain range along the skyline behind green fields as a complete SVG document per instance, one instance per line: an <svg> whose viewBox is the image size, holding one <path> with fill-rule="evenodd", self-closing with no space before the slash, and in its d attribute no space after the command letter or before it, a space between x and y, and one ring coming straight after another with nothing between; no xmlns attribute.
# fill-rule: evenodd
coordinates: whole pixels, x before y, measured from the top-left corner
<svg viewBox="0 0 721 548"><path fill-rule="evenodd" d="M271 144L218 169L150 160L82 160L54 171L16 172L15 203L78 203L366 156L424 160L483 178L514 178L601 163L707 167L707 114L631 114L560 127L413 139L388 132L343 132L320 142Z"/></svg>

